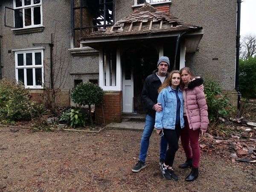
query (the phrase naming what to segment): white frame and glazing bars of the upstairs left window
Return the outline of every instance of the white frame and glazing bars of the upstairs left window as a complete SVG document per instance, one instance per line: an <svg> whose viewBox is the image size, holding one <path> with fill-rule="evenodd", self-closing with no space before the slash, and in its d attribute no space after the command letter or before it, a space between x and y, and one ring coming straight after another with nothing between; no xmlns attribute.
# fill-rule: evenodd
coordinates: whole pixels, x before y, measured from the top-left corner
<svg viewBox="0 0 256 192"><path fill-rule="evenodd" d="M43 8L42 8L42 1L40 0L40 3L34 4L34 0L31 0L31 5L25 6L25 0L22 0L22 6L16 7L16 0L13 0L13 9L22 9L22 18L23 18L23 28L15 28L15 29L27 29L27 28L34 28L34 27L40 27L43 26ZM41 24L34 25L34 7L40 6L40 14L41 14ZM31 25L25 26L25 9L31 8ZM15 13L13 13L14 18L14 26L15 26Z"/></svg>

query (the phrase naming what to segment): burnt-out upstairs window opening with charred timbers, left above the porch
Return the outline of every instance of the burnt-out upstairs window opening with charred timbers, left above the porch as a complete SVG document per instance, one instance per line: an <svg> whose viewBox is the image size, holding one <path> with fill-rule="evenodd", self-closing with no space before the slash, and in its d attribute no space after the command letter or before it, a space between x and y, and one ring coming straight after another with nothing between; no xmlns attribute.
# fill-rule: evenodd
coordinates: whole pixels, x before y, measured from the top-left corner
<svg viewBox="0 0 256 192"><path fill-rule="evenodd" d="M114 24L114 0L72 0L74 46L79 38Z"/></svg>

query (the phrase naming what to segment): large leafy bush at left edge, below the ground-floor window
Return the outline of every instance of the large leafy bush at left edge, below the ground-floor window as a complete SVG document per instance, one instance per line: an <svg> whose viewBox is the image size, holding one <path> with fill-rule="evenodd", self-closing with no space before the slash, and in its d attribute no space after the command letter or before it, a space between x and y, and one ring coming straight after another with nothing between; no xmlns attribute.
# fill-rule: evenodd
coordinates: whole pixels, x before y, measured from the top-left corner
<svg viewBox="0 0 256 192"><path fill-rule="evenodd" d="M29 90L21 84L2 79L0 81L0 118L29 120L44 112L42 105L30 100Z"/></svg>

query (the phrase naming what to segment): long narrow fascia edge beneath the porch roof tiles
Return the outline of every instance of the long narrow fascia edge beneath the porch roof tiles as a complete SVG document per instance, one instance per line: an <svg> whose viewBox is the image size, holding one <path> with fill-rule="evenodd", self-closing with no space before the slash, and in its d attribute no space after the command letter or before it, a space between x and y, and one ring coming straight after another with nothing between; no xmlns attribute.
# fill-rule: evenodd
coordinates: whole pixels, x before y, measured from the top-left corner
<svg viewBox="0 0 256 192"><path fill-rule="evenodd" d="M150 38L163 38L163 37L175 37L178 36L180 32L172 33L172 34L158 34L154 35L151 33L151 35L145 35L145 34L138 34L136 36L130 37L130 36L121 36L121 37L113 37L113 38L100 38L100 39L90 39L90 40L83 40L80 41L81 44L87 44L87 43L99 43L99 42L110 42L110 41L125 41L125 40L134 40L134 39L150 39ZM192 32L184 35L184 37L188 35L202 35L204 34L203 30L200 30L198 32Z"/></svg>

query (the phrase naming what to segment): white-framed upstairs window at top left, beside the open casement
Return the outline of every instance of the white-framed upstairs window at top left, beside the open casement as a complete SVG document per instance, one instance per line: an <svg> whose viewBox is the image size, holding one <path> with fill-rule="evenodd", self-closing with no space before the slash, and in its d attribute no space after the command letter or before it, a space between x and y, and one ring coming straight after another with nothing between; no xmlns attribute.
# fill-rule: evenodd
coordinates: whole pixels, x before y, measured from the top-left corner
<svg viewBox="0 0 256 192"><path fill-rule="evenodd" d="M13 0L14 26L31 28L42 26L42 0Z"/></svg>

